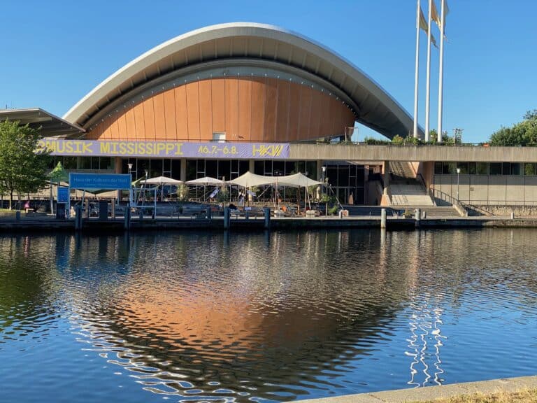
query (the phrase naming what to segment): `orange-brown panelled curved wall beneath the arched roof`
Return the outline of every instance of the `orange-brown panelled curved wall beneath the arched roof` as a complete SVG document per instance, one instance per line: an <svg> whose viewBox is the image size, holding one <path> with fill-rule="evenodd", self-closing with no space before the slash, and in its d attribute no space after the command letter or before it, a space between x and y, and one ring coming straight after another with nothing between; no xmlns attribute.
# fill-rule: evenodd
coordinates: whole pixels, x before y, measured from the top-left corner
<svg viewBox="0 0 537 403"><path fill-rule="evenodd" d="M308 85L263 77L210 78L185 83L121 106L87 139L301 141L345 133L352 111Z"/></svg>

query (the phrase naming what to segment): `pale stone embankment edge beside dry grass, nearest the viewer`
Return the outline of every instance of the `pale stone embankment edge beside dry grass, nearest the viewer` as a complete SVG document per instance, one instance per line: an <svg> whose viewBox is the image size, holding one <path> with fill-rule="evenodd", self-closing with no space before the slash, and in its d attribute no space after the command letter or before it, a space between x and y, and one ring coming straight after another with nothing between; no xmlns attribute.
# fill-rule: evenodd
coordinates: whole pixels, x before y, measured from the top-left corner
<svg viewBox="0 0 537 403"><path fill-rule="evenodd" d="M492 381L453 383L451 385L427 386L426 388L385 390L382 392L359 393L299 400L300 403L403 403L429 402L474 393L513 393L520 390L537 389L537 376L493 379Z"/></svg>

